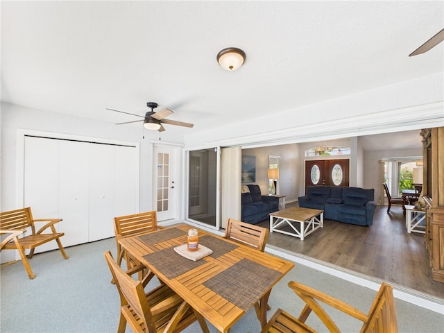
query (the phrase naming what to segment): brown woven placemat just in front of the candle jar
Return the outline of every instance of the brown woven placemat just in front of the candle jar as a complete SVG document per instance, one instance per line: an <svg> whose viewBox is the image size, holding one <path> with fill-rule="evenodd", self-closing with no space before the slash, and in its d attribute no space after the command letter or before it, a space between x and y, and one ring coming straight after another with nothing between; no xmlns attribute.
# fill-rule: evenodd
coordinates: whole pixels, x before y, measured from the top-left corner
<svg viewBox="0 0 444 333"><path fill-rule="evenodd" d="M164 248L163 250L144 255L144 258L151 262L162 274L168 279L176 278L177 276L190 271L200 265L205 264L205 260L194 260L182 257L174 248Z"/></svg>

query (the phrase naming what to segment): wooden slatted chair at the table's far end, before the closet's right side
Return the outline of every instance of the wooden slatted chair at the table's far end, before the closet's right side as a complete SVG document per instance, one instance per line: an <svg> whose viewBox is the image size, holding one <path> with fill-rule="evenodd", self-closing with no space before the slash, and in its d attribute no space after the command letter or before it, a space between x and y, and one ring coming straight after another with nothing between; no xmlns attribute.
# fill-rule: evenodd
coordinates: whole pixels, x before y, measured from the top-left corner
<svg viewBox="0 0 444 333"><path fill-rule="evenodd" d="M128 275L139 274L139 280L142 281L144 287L153 278L154 274L148 270L143 264L140 264L133 257L126 253L126 250L119 244L119 239L137 236L138 234L146 234L160 227L157 225L157 212L143 212L139 214L131 214L125 216L114 217L114 232L116 234L117 244L117 264L121 266L123 259L126 261ZM111 281L114 283L114 280Z"/></svg>

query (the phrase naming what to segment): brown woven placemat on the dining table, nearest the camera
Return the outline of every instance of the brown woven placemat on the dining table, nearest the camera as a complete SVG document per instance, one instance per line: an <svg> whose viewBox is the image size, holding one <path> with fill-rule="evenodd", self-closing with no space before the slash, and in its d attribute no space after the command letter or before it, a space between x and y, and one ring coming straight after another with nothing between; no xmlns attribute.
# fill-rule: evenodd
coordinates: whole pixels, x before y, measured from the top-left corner
<svg viewBox="0 0 444 333"><path fill-rule="evenodd" d="M241 259L203 285L240 309L248 311L280 275L280 272L271 268Z"/></svg>

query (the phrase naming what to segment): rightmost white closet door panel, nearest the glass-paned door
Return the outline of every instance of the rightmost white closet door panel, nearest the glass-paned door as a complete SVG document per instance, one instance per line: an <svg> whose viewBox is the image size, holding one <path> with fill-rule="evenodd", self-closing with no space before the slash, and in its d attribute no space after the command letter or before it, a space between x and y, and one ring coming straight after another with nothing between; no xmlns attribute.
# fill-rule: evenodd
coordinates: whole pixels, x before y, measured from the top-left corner
<svg viewBox="0 0 444 333"><path fill-rule="evenodd" d="M136 207L137 150L135 147L115 147L114 214L138 213Z"/></svg>

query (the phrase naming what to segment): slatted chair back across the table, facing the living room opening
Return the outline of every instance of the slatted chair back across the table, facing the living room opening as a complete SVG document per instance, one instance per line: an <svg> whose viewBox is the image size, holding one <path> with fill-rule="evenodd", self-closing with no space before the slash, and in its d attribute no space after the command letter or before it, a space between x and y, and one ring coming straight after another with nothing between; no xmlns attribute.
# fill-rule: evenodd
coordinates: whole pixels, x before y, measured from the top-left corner
<svg viewBox="0 0 444 333"><path fill-rule="evenodd" d="M258 225L228 219L225 238L264 252L268 229Z"/></svg>

